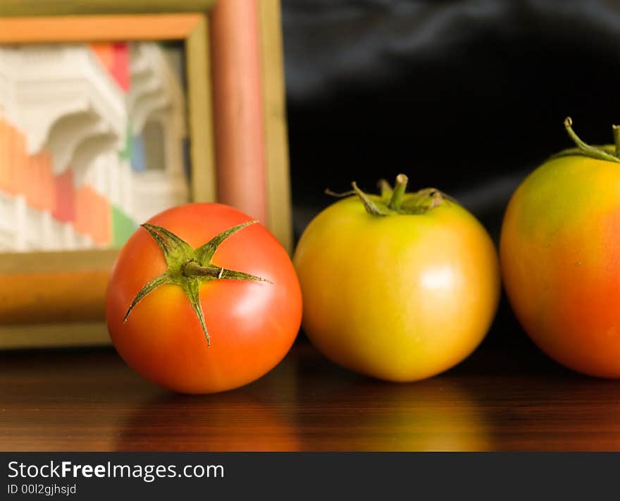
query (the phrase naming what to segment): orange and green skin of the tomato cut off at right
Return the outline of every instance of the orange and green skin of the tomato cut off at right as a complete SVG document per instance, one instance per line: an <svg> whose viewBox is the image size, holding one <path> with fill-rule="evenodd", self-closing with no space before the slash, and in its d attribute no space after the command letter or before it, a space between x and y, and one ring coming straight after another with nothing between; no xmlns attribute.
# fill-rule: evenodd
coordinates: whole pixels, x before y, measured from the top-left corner
<svg viewBox="0 0 620 501"><path fill-rule="evenodd" d="M507 207L500 239L507 296L543 352L620 378L620 166L547 161Z"/></svg>

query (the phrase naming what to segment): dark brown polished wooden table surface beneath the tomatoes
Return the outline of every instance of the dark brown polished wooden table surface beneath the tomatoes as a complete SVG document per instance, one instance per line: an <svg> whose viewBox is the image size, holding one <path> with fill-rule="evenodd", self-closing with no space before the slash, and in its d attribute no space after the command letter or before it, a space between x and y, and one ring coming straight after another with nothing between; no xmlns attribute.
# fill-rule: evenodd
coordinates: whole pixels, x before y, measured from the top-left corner
<svg viewBox="0 0 620 501"><path fill-rule="evenodd" d="M1 450L620 450L620 381L476 354L419 383L357 376L297 342L240 390L175 395L116 352L0 354Z"/></svg>

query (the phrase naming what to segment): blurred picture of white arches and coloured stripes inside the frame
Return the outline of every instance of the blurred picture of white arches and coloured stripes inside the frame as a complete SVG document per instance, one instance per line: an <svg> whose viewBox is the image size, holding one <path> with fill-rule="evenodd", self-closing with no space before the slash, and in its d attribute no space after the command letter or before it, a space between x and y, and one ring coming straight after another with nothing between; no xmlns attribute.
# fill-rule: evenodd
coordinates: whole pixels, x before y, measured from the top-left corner
<svg viewBox="0 0 620 501"><path fill-rule="evenodd" d="M191 183L184 61L179 43L0 46L0 252L118 249L213 199Z"/></svg>

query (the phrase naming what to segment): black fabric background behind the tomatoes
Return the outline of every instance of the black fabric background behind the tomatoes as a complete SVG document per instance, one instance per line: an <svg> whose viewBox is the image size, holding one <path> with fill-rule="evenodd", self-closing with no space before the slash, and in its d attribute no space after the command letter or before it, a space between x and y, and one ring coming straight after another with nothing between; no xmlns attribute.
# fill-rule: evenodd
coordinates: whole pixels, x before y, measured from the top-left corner
<svg viewBox="0 0 620 501"><path fill-rule="evenodd" d="M283 25L296 237L325 187L404 172L497 242L516 186L572 145L565 116L593 144L620 120L612 1L283 0ZM484 348L502 352L487 364L550 363L505 298Z"/></svg>

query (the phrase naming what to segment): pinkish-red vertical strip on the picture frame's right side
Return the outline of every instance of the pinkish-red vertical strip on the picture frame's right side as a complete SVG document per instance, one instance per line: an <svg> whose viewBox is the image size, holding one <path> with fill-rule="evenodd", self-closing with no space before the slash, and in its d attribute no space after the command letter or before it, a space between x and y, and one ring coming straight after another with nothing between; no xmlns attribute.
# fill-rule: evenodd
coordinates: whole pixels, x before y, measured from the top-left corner
<svg viewBox="0 0 620 501"><path fill-rule="evenodd" d="M218 200L266 223L257 1L218 2L210 19Z"/></svg>

